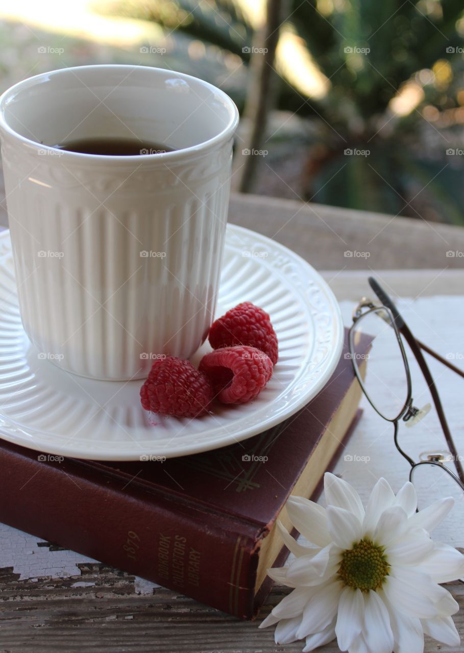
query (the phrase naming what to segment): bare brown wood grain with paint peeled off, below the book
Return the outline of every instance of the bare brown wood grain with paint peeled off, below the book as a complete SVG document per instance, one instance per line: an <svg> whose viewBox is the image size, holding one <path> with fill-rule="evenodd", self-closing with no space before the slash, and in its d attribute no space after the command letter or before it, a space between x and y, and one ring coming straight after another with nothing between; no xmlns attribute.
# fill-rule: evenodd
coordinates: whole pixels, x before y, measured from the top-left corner
<svg viewBox="0 0 464 653"><path fill-rule="evenodd" d="M290 591L287 588L274 588L258 622L239 622L171 590L156 588L153 596L120 594L124 584L129 591L133 577L97 566L88 571L88 578L99 580L96 592L95 588L89 592L67 584L49 591L43 583L34 591L27 583L22 589L17 584L14 588L12 581L7 594L1 596L0 653L123 653L135 649L139 653L296 653L303 648L301 642L276 646L274 628L257 628L261 618ZM463 584L448 589L462 609ZM461 612L456 625L462 633ZM464 650L461 646L442 647L427 638L426 653L442 648L449 653ZM335 653L339 648L331 644L321 650Z"/></svg>

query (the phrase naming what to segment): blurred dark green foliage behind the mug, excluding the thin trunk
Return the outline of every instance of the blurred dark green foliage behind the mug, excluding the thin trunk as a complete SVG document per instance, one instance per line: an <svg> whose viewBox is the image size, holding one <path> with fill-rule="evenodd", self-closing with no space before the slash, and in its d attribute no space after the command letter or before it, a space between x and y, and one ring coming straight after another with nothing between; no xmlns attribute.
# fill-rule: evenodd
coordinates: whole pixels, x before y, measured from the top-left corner
<svg viewBox="0 0 464 653"><path fill-rule="evenodd" d="M202 42L204 56L186 52L207 76L208 52L248 65L250 3L115 0L106 10ZM295 134L306 148L305 199L464 224L463 11L462 0L291 0L283 29L327 80L311 97L282 72L298 72L305 57L277 62L278 108L312 123ZM212 81L243 106L246 75L224 69Z"/></svg>

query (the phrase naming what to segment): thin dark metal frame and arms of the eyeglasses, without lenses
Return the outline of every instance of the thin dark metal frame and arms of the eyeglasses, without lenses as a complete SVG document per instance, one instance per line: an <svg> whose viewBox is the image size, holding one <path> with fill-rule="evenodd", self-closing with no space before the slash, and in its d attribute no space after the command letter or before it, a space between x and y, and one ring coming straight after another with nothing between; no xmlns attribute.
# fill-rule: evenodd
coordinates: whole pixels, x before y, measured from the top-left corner
<svg viewBox="0 0 464 653"><path fill-rule="evenodd" d="M376 413L378 413L378 415L380 415L380 417L382 417L386 421L391 422L393 424L395 429L394 436L393 436L395 447L397 448L399 453L403 456L403 458L405 458L411 466L409 472L409 480L411 482L414 477L414 471L417 470L419 466L423 466L423 465L439 466L442 470L446 471L446 473L448 473L450 477L454 479L454 481L456 481L457 485L459 485L461 490L463 490L464 492L464 470L461 466L460 458L456 450L456 445L454 444L454 440L452 438L450 428L448 427L448 422L446 421L444 409L441 404L439 392L435 385L435 381L433 380L433 376L429 370L429 366L427 365L427 362L425 361L425 358L422 355L422 349L423 351L429 353L429 355L439 360L439 362L444 364L446 367L450 368L453 372L456 372L456 374L459 374L462 377L464 377L464 372L459 370L459 368L456 368L445 358L442 358L439 354L437 354L437 352L427 347L427 345L424 345L422 342L417 340L413 336L410 328L406 325L405 320L397 310L395 304L393 304L393 301L388 296L388 294L384 291L384 289L380 286L378 281L376 281L376 279L374 279L373 277L369 277L368 281L369 281L369 285L371 286L371 288L373 289L374 293L377 295L381 303L374 304L374 302L372 302L371 300L363 298L361 302L359 302L359 304L356 306L355 310L353 311L353 324L351 325L350 330L348 332L348 347L350 349L350 358L352 361L354 373L356 374L357 380L359 381L359 385L361 386L361 390L363 390L363 393L365 394L367 400L369 401L369 404L371 404L371 406L374 408ZM364 309L367 310L363 311ZM399 344L399 349L401 351L401 357L403 359L403 364L405 366L405 372L406 372L407 392L406 392L405 404L403 405L403 408L399 411L399 413L393 418L386 417L386 415L384 415L380 411L380 409L378 409L378 407L374 404L374 402L371 400L371 397L369 396L369 392L367 392L366 390L364 379L361 377L361 372L356 364L356 352L354 351L354 344L353 344L354 331L357 327L357 324L359 323L359 320L365 317L366 315L371 315L372 313L379 313L380 311L384 311L388 319L386 319L386 317L382 315L379 315L379 317L384 319L384 321L386 321L389 327L393 328L395 332L395 337ZM442 428L444 438L450 449L449 454L452 456L452 460L456 467L457 475L453 471L451 471L448 467L446 467L446 465L444 465L446 458L445 456L443 456L442 453L436 453L436 454L433 453L428 456L427 460L420 460L420 462L414 462L414 460L410 456L408 456L408 454L406 454L406 452L403 451L403 449L399 445L398 442L399 420L403 419L403 421L407 422L409 419L417 415L419 412L419 409L414 406L414 400L412 399L412 378L411 378L410 367L408 363L408 357L406 355L405 346L403 344L403 340L401 336L405 338L406 342L410 346L410 349L420 366L422 374L425 377L425 381L427 382L427 387L431 392L433 403L435 404L435 409L437 410L439 416L440 426Z"/></svg>

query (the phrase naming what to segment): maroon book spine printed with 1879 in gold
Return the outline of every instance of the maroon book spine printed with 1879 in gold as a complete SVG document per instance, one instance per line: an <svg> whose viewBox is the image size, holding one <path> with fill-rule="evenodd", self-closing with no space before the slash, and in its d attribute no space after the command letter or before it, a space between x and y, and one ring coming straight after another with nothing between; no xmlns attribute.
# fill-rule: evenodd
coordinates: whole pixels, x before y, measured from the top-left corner
<svg viewBox="0 0 464 653"><path fill-rule="evenodd" d="M34 454L36 454L34 456ZM114 479L95 483L72 460L0 449L0 520L41 539L252 618L254 527Z"/></svg>

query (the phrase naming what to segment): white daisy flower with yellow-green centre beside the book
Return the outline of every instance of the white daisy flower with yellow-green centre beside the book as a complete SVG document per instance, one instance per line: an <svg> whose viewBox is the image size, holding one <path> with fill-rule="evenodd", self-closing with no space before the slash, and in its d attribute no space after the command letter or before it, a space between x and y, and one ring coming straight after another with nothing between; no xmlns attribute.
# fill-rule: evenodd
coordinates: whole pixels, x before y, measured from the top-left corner
<svg viewBox="0 0 464 653"><path fill-rule="evenodd" d="M291 522L311 544L297 543L279 523L296 560L268 573L294 589L259 628L277 624L276 644L306 639L303 652L337 637L349 653L422 653L424 633L459 645L451 618L459 606L439 583L464 575L464 556L430 537L454 500L416 513L411 483L395 496L380 479L364 508L356 490L330 473L324 490L326 509L288 499Z"/></svg>

